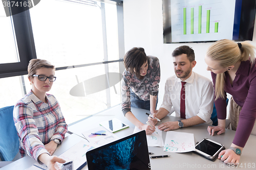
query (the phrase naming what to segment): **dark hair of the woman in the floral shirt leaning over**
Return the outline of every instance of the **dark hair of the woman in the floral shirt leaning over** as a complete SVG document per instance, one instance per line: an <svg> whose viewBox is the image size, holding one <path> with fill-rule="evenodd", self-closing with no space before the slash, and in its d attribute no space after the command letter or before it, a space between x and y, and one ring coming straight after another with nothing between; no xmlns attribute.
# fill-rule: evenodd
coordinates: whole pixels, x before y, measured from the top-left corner
<svg viewBox="0 0 256 170"><path fill-rule="evenodd" d="M124 67L135 74L137 78L140 77L140 67L148 60L144 48L133 47L129 50L123 58ZM134 72L135 70L135 72Z"/></svg>

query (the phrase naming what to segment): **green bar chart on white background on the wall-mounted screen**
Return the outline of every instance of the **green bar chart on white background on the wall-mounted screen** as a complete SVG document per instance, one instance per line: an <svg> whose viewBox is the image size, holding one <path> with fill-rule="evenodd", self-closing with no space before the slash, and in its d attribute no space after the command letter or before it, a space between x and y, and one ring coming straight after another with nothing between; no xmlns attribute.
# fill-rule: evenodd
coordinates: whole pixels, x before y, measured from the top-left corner
<svg viewBox="0 0 256 170"><path fill-rule="evenodd" d="M232 39L234 8L235 0L171 0L172 41Z"/></svg>

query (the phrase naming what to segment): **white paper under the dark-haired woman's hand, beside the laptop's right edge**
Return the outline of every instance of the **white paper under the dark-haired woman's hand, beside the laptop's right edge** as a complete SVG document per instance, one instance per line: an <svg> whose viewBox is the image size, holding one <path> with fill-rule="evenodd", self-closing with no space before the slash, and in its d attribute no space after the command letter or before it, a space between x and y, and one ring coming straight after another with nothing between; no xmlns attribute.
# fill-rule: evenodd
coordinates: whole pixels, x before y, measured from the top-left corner
<svg viewBox="0 0 256 170"><path fill-rule="evenodd" d="M162 131L155 126L156 131L150 135L146 135L146 141L148 147L163 147ZM139 128L135 127L133 133L139 132ZM156 133L157 132L157 133Z"/></svg>

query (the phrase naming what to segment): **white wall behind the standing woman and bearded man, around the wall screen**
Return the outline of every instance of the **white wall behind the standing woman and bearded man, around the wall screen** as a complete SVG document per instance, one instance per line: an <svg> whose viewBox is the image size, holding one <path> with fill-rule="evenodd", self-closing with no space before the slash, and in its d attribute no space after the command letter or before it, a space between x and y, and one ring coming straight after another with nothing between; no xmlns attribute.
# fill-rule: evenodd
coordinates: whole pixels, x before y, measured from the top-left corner
<svg viewBox="0 0 256 170"><path fill-rule="evenodd" d="M159 58L161 81L159 84L159 103L163 101L164 84L168 77L174 75L172 52L180 45L188 45L195 51L197 65L193 71L211 80L210 72L206 70L204 56L208 43L163 43L163 13L162 0L123 0L124 15L124 47L125 52L132 47L143 47L147 55ZM256 32L251 44L256 46ZM229 96L230 99L230 96Z"/></svg>

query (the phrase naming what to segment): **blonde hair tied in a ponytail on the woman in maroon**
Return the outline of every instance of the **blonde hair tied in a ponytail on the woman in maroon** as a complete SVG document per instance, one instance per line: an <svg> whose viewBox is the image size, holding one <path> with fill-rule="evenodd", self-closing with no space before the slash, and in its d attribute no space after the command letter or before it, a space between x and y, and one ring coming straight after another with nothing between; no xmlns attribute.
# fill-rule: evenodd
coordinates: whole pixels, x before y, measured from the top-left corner
<svg viewBox="0 0 256 170"><path fill-rule="evenodd" d="M209 46L206 55L213 61L219 62L220 66L228 67L236 64L238 61L250 60L251 66L255 61L253 45L248 41L236 43L232 40L223 39L215 42ZM225 73L217 74L215 82L215 96L217 100L219 97L225 99Z"/></svg>

